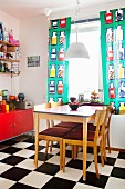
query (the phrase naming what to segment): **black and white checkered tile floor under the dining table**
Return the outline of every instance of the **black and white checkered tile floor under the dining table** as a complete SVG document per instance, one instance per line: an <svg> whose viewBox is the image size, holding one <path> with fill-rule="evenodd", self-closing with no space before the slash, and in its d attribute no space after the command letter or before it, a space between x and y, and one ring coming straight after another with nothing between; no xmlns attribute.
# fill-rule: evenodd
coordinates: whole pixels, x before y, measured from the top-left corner
<svg viewBox="0 0 125 189"><path fill-rule="evenodd" d="M92 149L87 151L87 179L82 179L82 150L76 160L66 151L65 172L60 171L59 147L44 158L45 142L40 141L39 166L34 167L34 140L29 136L0 142L0 189L125 189L125 152L107 152L105 166L96 178Z"/></svg>

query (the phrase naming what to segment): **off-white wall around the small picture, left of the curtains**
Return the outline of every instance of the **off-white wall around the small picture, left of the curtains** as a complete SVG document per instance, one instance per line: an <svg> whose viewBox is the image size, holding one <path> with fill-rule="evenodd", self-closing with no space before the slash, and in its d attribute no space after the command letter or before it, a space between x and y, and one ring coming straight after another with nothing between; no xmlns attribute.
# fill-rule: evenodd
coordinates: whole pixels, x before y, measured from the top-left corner
<svg viewBox="0 0 125 189"><path fill-rule="evenodd" d="M34 105L46 101L48 32L45 16L20 20L20 92ZM40 56L40 67L28 67L27 58L31 56Z"/></svg>

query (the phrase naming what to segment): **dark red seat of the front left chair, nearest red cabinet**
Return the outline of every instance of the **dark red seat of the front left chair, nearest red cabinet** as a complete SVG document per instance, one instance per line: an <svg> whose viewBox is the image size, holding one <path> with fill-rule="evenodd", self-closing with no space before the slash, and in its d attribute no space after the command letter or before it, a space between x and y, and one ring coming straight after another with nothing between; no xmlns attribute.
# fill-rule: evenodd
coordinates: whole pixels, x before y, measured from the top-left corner
<svg viewBox="0 0 125 189"><path fill-rule="evenodd" d="M41 131L39 135L53 136L63 138L66 133L71 132L70 128L53 127Z"/></svg>

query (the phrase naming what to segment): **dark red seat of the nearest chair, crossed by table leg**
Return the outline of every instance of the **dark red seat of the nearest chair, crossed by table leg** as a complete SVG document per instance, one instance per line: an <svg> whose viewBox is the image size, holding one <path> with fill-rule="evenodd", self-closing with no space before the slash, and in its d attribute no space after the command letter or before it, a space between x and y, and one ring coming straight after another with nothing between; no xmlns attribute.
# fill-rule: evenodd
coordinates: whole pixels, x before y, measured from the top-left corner
<svg viewBox="0 0 125 189"><path fill-rule="evenodd" d="M94 131L87 131L87 141L94 140L95 132ZM83 140L83 129L82 127L76 128L75 130L69 132L64 136L64 139L72 139L72 140Z"/></svg>

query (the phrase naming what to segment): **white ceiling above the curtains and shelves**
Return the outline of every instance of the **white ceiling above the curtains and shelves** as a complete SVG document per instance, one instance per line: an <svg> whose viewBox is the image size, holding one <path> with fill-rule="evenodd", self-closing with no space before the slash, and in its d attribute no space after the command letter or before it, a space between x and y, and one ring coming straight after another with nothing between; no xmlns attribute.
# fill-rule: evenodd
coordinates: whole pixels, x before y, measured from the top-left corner
<svg viewBox="0 0 125 189"><path fill-rule="evenodd" d="M44 13L44 8L50 8L52 13L76 10L77 2L80 8L88 8L105 3L114 3L117 0L0 0L0 10L18 19L39 16ZM122 0L121 0L122 1Z"/></svg>

